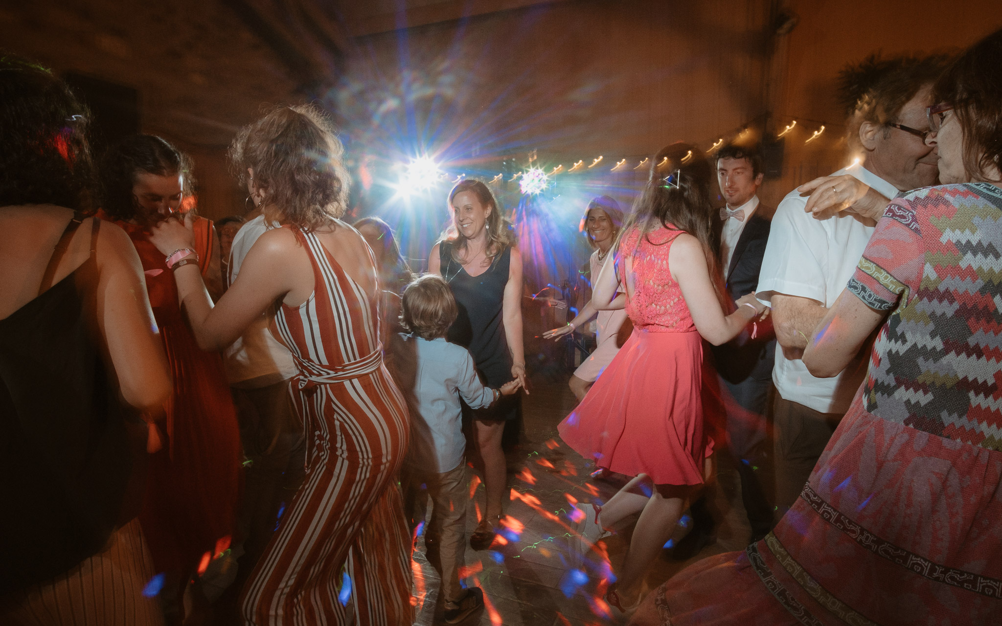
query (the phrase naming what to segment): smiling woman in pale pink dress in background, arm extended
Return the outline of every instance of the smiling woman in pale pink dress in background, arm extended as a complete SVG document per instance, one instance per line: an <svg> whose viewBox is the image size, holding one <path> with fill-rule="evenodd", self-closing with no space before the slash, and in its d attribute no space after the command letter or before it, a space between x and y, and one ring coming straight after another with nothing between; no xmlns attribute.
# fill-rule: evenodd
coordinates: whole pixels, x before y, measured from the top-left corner
<svg viewBox="0 0 1002 626"><path fill-rule="evenodd" d="M588 237L588 244L595 249L591 253L588 262L591 265L591 280L598 277L598 273L608 258L609 250L619 230L623 225L623 212L619 209L619 203L608 195L596 197L588 202L588 209L584 213L584 231ZM570 391L574 392L574 397L578 402L584 398L591 386L595 384L595 379L612 362L612 358L619 352L618 334L623 322L626 321L626 309L619 304L622 303L624 290L622 285L616 292L616 299L611 304L617 308L597 310L591 300L581 307L580 312L567 323L567 326L553 329L543 333L543 339L559 340L561 337L573 333L581 325L591 320L591 317L598 314L596 337L598 346L592 351L588 358L584 360L574 374L570 377ZM628 329L627 329L628 330ZM599 470L601 472L601 470Z"/></svg>

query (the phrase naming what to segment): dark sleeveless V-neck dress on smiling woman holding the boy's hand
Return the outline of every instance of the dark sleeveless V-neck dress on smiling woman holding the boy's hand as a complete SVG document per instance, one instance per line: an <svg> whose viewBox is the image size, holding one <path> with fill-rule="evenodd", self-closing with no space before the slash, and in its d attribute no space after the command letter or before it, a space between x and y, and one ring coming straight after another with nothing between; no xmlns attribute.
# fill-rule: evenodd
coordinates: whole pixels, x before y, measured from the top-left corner
<svg viewBox="0 0 1002 626"><path fill-rule="evenodd" d="M471 276L452 257L452 244L439 244L442 277L452 287L459 316L449 328L448 340L470 351L477 369L489 387L511 380L511 356L504 334L504 287L508 284L511 248L494 256L491 266Z"/></svg>

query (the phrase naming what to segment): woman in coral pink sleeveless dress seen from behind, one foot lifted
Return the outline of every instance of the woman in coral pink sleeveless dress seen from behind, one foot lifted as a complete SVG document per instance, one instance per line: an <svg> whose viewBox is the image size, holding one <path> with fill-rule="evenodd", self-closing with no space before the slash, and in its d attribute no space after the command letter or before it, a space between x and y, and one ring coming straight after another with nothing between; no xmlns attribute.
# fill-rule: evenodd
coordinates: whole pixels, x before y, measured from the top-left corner
<svg viewBox="0 0 1002 626"><path fill-rule="evenodd" d="M721 285L711 277L711 177L694 146L673 143L651 159L647 184L616 242L616 262L602 267L591 296L598 310L625 307L633 333L558 427L564 442L598 467L634 477L604 506L578 506L581 552L640 514L605 596L623 613L636 609L648 565L709 478L707 461L719 436L712 416L704 415L711 402L704 381L715 379L704 372L702 340L724 344L766 310L749 293L724 316ZM617 296L620 284L625 296Z"/></svg>

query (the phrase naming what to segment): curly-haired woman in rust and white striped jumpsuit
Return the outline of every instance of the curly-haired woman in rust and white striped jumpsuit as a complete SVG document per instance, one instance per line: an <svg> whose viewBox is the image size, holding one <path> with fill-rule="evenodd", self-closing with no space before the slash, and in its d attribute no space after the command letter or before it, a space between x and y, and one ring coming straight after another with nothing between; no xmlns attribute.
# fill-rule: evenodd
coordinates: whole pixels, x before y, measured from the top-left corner
<svg viewBox="0 0 1002 626"><path fill-rule="evenodd" d="M214 308L199 273L175 253L178 293L203 350L227 346L273 310L272 333L299 369L292 394L310 442L306 481L243 589L247 624L413 622L411 544L395 482L407 409L383 365L372 252L338 219L342 151L317 109L269 113L230 152L266 220L282 227L255 243ZM191 247L186 225L168 220L151 240L164 254Z"/></svg>

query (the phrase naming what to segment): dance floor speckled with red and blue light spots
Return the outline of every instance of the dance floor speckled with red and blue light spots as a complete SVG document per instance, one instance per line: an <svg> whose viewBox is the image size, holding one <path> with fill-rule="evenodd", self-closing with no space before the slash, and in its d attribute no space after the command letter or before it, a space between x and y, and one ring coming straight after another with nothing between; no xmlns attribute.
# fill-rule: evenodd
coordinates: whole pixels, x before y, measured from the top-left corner
<svg viewBox="0 0 1002 626"><path fill-rule="evenodd" d="M467 542L468 586L483 590L484 610L463 624L484 626L574 626L615 623L605 613L596 586L606 564L600 558L579 562L573 556L567 526L570 503L607 500L623 484L623 477L592 480L594 469L564 446L557 436L557 424L573 409L575 400L567 389L567 377L534 377L530 396L524 397L524 424L521 445L508 456L508 487L504 539L490 550L475 551ZM472 472L471 472L472 476ZM713 507L720 519L717 542L686 562L670 559L665 550L651 568L647 584L653 588L689 563L730 550L744 548L749 534L740 505L739 486L732 468L721 467L719 489ZM483 485L473 483L477 501L483 501ZM467 537L477 524L478 511L469 504ZM683 523L688 518L683 518ZM625 554L632 524L605 539L608 559L618 566ZM679 525L677 541L686 529ZM504 543L504 545L500 545ZM594 555L592 555L594 557ZM414 555L417 624L442 624L443 606L438 598L439 580L429 564L423 538Z"/></svg>

